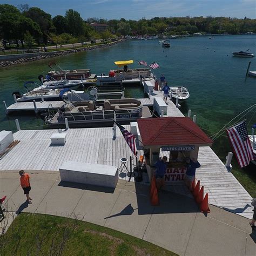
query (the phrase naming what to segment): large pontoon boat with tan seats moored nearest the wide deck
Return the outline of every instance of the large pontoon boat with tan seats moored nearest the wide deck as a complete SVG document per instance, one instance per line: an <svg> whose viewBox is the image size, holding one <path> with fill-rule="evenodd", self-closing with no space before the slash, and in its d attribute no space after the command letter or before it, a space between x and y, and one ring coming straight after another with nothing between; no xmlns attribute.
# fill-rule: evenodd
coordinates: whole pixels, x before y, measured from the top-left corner
<svg viewBox="0 0 256 256"><path fill-rule="evenodd" d="M82 100L67 103L64 111L58 110L55 116L46 117L45 122L50 126L59 126L65 123L65 118L68 118L71 125L96 125L113 123L116 116L117 122L129 123L143 117L143 112L150 113L138 99L104 99L95 102ZM151 116L150 114L148 117Z"/></svg>

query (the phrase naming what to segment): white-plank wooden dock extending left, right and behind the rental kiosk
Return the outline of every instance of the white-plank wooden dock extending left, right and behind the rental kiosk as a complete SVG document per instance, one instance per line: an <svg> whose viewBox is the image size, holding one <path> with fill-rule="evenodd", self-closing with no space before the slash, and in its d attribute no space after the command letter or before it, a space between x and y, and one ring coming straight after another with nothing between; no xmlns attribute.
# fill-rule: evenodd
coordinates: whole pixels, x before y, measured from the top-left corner
<svg viewBox="0 0 256 256"><path fill-rule="evenodd" d="M163 97L163 92L154 91L150 99L140 100L143 105L150 106L153 105L154 97ZM167 117L184 116L171 100L168 99L167 103ZM130 130L130 125L124 127ZM115 140L112 139L112 127L68 129L65 131L65 145L59 146L51 145L51 134L56 132L57 130L27 130L14 133L14 139L21 142L0 160L0 171L58 171L66 160L120 166L120 158L129 159L132 156L119 129ZM167 154L160 152L161 156L164 153ZM143 151L139 151L139 155L141 154ZM197 170L196 177L208 193L209 203L251 219L252 197L232 172L227 171L213 150L210 147L200 147L198 161L201 167ZM134 158L132 163L135 166ZM184 190L183 186L180 187Z"/></svg>

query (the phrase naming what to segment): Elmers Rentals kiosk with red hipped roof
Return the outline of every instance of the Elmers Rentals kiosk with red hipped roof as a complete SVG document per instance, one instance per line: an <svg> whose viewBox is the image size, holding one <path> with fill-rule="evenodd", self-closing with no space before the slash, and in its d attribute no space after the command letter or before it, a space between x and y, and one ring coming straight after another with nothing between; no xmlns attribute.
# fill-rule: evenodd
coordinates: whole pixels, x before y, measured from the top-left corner
<svg viewBox="0 0 256 256"><path fill-rule="evenodd" d="M150 179L154 163L164 155L168 158L165 181L183 180L185 157L197 160L199 147L213 143L188 117L140 118L137 122Z"/></svg>

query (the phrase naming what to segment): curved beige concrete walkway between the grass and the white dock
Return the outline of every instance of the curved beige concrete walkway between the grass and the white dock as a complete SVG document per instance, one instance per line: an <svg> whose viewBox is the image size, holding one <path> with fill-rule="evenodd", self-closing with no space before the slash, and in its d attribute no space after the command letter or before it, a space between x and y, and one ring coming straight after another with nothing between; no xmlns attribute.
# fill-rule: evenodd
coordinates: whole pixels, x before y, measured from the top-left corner
<svg viewBox="0 0 256 256"><path fill-rule="evenodd" d="M9 215L35 212L83 219L144 239L180 255L255 255L256 233L247 218L210 206L207 217L194 200L161 193L152 207L149 186L119 180L109 190L63 183L59 173L31 173L33 203L25 196L15 172L0 172L0 196L7 195ZM9 218L11 220L11 218ZM0 224L1 227L1 224Z"/></svg>

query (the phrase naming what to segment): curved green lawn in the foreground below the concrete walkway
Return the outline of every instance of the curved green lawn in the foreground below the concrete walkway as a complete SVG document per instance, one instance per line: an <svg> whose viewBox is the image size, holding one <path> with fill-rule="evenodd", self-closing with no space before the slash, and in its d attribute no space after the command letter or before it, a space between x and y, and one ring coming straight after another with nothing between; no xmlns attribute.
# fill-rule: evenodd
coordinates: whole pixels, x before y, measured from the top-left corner
<svg viewBox="0 0 256 256"><path fill-rule="evenodd" d="M0 255L177 255L103 226L53 215L21 213L0 236Z"/></svg>

